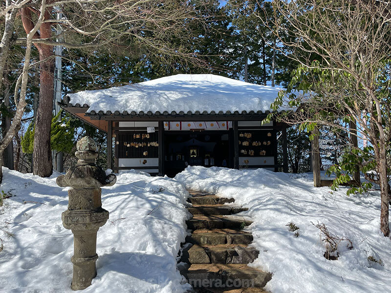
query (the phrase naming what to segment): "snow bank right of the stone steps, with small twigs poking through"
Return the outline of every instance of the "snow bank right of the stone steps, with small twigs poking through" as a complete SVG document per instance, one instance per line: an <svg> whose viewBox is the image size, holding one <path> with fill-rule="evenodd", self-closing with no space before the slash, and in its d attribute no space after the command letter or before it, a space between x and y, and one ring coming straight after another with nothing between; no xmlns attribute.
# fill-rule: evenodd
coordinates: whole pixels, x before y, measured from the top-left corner
<svg viewBox="0 0 391 293"><path fill-rule="evenodd" d="M266 169L233 170L188 167L175 179L187 188L215 192L249 208L249 227L260 252L251 266L273 273L266 289L273 293L378 293L390 292L391 241L380 232L380 195L346 196L346 189L331 193L314 188L309 174L274 173ZM338 260L327 260L319 230L352 241L340 243ZM299 237L285 225L295 223ZM369 262L381 259L383 266Z"/></svg>

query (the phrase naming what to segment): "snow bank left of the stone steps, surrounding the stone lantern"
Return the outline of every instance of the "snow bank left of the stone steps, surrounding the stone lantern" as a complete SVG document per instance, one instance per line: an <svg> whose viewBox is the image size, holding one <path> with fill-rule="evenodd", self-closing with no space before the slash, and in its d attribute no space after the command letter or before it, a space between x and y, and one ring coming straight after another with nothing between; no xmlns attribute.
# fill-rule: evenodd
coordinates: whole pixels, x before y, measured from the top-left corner
<svg viewBox="0 0 391 293"><path fill-rule="evenodd" d="M5 240L0 252L0 291L73 292L73 236L61 221L67 188L56 185L56 176L3 170L0 190L14 196L0 207L0 228L15 239ZM98 276L83 292L184 292L176 255L186 236L187 196L182 184L137 171L103 188L110 218L98 231Z"/></svg>

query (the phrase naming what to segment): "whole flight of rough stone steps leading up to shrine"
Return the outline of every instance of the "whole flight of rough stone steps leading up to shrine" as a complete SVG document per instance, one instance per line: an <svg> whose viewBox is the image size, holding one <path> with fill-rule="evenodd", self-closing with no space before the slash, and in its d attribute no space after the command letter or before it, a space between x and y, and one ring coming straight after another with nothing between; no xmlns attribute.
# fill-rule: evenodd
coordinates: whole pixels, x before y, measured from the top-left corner
<svg viewBox="0 0 391 293"><path fill-rule="evenodd" d="M232 198L189 191L192 197L188 210L193 218L187 227L191 236L181 251L181 273L196 293L265 293L262 288L272 275L247 266L259 254L248 247L251 233L243 231L250 225L235 215L247 209L224 205ZM183 265L186 264L186 265Z"/></svg>

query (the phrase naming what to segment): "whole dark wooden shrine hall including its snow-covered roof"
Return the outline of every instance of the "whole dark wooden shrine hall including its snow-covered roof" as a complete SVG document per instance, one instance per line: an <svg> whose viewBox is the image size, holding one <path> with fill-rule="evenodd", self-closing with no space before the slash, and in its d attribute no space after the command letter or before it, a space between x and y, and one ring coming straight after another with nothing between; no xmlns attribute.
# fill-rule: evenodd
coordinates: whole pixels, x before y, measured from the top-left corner
<svg viewBox="0 0 391 293"><path fill-rule="evenodd" d="M174 176L187 166L287 172L286 126L261 124L280 90L210 74L174 75L69 94L61 107L107 133L114 172Z"/></svg>

